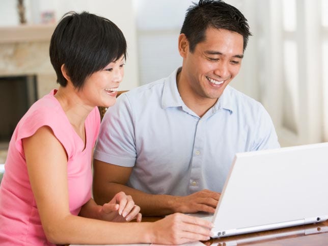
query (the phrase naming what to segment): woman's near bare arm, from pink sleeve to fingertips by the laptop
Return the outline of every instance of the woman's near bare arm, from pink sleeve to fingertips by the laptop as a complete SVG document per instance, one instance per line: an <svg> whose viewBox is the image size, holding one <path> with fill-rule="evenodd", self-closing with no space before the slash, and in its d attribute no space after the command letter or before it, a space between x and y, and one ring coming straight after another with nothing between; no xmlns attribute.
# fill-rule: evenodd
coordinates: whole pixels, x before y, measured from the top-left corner
<svg viewBox="0 0 328 246"><path fill-rule="evenodd" d="M211 224L184 214L170 215L155 223L114 223L74 216L69 210L66 152L51 129L41 127L23 139L23 148L41 223L52 243L176 244L208 239ZM94 207L86 204L89 205Z"/></svg>

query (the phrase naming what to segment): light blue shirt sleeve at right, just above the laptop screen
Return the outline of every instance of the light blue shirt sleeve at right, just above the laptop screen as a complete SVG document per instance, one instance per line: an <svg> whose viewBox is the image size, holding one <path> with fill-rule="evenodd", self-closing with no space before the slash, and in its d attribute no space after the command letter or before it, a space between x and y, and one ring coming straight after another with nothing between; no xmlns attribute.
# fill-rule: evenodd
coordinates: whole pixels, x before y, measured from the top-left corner
<svg viewBox="0 0 328 246"><path fill-rule="evenodd" d="M257 122L252 151L280 148L275 126L262 104L260 104L259 120Z"/></svg>

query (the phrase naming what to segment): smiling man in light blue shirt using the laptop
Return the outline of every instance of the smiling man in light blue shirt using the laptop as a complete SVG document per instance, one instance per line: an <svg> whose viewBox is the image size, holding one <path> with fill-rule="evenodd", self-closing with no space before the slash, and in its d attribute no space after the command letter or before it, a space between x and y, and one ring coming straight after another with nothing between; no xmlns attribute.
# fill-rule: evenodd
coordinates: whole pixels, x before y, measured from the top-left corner
<svg viewBox="0 0 328 246"><path fill-rule="evenodd" d="M263 106L228 86L250 35L247 19L222 1L187 10L182 67L121 95L102 121L97 203L123 190L144 215L214 212L236 152L280 147Z"/></svg>

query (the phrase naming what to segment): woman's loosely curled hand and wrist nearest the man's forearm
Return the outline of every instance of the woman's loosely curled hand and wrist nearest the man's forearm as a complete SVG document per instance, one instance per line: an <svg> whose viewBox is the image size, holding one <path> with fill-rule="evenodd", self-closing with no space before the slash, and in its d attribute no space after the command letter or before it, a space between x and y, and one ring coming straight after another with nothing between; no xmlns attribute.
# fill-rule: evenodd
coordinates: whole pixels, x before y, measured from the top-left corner
<svg viewBox="0 0 328 246"><path fill-rule="evenodd" d="M134 204L131 196L120 192L108 203L102 205L99 209L100 218L111 222L128 222L136 219L141 222L142 215L139 212L140 207Z"/></svg>

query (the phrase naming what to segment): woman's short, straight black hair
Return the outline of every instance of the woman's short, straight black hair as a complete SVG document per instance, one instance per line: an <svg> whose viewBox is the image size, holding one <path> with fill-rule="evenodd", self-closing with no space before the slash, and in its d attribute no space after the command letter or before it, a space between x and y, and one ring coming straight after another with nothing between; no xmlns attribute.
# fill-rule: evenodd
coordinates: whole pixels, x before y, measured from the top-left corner
<svg viewBox="0 0 328 246"><path fill-rule="evenodd" d="M57 74L57 83L65 87L65 69L75 88L81 89L94 72L126 58L126 41L112 21L88 12L66 13L50 40L50 61Z"/></svg>

